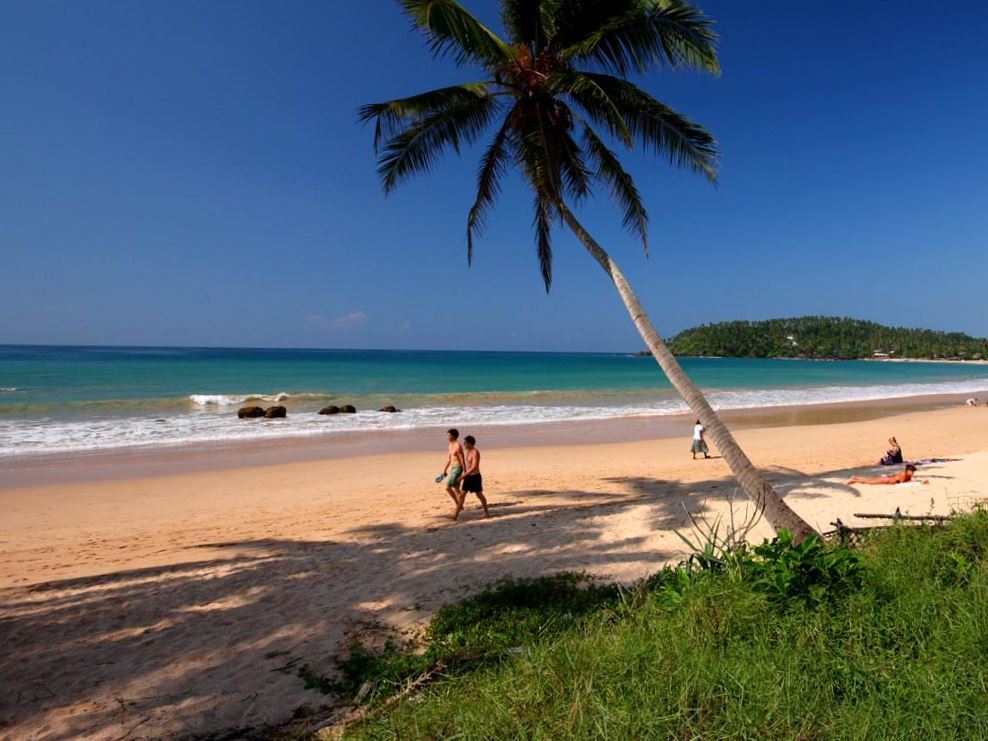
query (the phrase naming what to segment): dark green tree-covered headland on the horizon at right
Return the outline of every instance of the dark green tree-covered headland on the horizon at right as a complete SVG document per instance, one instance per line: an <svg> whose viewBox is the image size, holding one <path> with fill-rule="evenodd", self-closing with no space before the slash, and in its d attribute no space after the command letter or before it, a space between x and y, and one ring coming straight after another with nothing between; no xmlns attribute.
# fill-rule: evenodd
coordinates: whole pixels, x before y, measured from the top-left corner
<svg viewBox="0 0 988 741"><path fill-rule="evenodd" d="M984 338L825 316L705 324L680 332L669 346L676 355L746 358L988 357Z"/></svg>

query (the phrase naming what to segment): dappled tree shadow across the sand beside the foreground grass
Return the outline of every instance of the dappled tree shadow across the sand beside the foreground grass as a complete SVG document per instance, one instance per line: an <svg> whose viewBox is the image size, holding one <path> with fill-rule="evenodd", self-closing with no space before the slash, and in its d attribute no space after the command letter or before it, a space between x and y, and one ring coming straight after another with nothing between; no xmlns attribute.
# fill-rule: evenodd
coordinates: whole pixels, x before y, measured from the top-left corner
<svg viewBox="0 0 988 741"><path fill-rule="evenodd" d="M837 472L769 475L783 491L853 491L828 480ZM489 520L471 503L460 523L382 522L353 529L352 540L205 543L222 555L0 592L0 735L25 735L19 726L43 735L42 721L53 735L107 737L282 721L293 708L279 706L276 717L250 688L318 705L322 696L303 693L293 668L304 660L330 671L361 626L400 624L402 615L415 624L502 576L657 570L679 557L678 541L659 548L650 536L688 526L687 512L706 512L736 489L727 478L604 483L603 492L498 492ZM615 532L613 517L625 514L627 527ZM208 693L197 690L203 684ZM71 717L53 713L82 703Z"/></svg>

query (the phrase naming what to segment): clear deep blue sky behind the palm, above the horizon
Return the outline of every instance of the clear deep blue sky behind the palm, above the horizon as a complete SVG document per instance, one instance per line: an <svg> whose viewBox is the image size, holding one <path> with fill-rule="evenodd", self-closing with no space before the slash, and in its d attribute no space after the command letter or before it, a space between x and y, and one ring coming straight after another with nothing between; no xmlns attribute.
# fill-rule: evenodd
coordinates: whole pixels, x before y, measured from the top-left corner
<svg viewBox="0 0 988 741"><path fill-rule="evenodd" d="M626 156L648 259L606 193L582 209L659 330L834 314L988 334L988 8L701 5L723 75L642 84L713 131L720 186ZM546 296L518 180L467 269L476 151L382 195L357 107L478 76L389 0L7 0L0 69L0 342L641 346L562 230Z"/></svg>

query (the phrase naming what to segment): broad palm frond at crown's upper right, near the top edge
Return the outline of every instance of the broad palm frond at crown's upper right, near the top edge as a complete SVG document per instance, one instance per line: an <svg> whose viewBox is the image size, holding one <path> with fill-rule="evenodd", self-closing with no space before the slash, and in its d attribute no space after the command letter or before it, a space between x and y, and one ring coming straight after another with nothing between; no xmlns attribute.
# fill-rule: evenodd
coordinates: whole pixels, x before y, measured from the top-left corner
<svg viewBox="0 0 988 741"><path fill-rule="evenodd" d="M713 21L688 0L639 0L586 37L560 50L619 75L659 67L720 73Z"/></svg>

